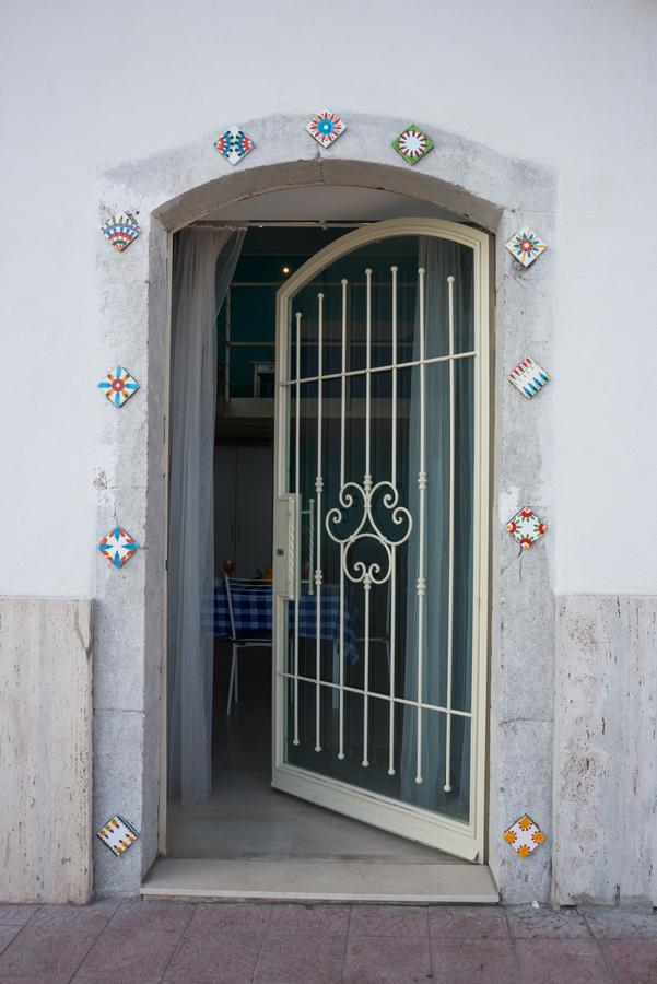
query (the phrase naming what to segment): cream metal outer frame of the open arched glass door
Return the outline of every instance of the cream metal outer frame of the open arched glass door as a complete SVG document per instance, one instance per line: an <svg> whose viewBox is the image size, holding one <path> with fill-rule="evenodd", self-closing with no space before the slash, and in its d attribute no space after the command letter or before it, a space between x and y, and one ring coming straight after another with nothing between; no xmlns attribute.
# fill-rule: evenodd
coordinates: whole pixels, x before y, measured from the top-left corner
<svg viewBox="0 0 657 984"><path fill-rule="evenodd" d="M290 394L294 376L290 366L289 330L292 325L291 302L294 295L327 266L340 257L385 238L397 236L434 236L462 244L474 257L474 351L467 353L474 365L474 503L473 503L473 565L472 565L472 702L470 762L470 819L468 823L434 813L419 807L392 800L328 776L285 762L285 688L294 673L285 670L288 635L288 599L294 597L300 581L295 565L295 518L297 506L288 488L290 448ZM319 302L321 305L321 301ZM453 222L432 219L390 220L367 225L327 246L308 260L279 291L277 304L277 388L274 443L274 601L273 601L273 740L272 786L310 800L320 806L379 827L392 833L429 844L468 860L484 862L485 817L485 750L488 693L488 548L489 548L489 237L485 233ZM460 354L460 353L459 353ZM454 366L453 349L446 361ZM421 352L420 363L424 360ZM368 372L368 370L367 370ZM342 372L342 376L344 368ZM319 374L321 377L321 367ZM340 374L338 374L340 375ZM300 378L297 372L296 378ZM368 378L368 377L367 377ZM298 384L297 384L298 386ZM454 422L454 407L451 407ZM451 424L454 425L454 423ZM454 473L454 472L453 472ZM451 481L453 483L453 481ZM321 482L319 482L321 490ZM420 489L422 484L420 483ZM367 489L361 490L367 494ZM321 500L321 493L319 493ZM422 492L420 502L422 503ZM422 507L422 506L421 506ZM326 516L321 501L317 506L317 525L324 531ZM450 552L454 532L450 532ZM392 551L394 552L394 551ZM320 559L317 560L320 569ZM321 576L321 575L320 575ZM421 578L420 578L421 579ZM365 590L367 595L367 590ZM419 590L422 596L422 590ZM420 600L420 611L422 600ZM296 671L297 672L297 671ZM342 679L330 684L343 691ZM319 683L317 684L319 691ZM398 699L390 700L394 705ZM366 695L365 695L366 703ZM402 701L418 707L421 719L423 705ZM449 704L449 700L448 700ZM433 708L432 708L433 710ZM448 722L455 712L449 705L442 708ZM468 716L468 715L466 715ZM420 747L420 746L419 746ZM447 783L449 782L447 777Z"/></svg>

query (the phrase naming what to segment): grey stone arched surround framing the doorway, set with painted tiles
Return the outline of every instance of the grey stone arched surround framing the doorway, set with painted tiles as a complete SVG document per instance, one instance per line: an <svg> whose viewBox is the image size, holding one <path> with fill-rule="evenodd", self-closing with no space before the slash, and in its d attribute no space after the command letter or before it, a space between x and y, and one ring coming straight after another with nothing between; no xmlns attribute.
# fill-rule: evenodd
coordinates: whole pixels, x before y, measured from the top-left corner
<svg viewBox="0 0 657 984"><path fill-rule="evenodd" d="M550 894L549 850L528 872L500 836L525 810L543 827L551 817L552 548L537 551L531 574L520 577L524 562L513 561L504 529L515 508L529 502L549 518L550 395L524 408L504 376L529 353L550 364L548 288L555 250L525 270L504 243L530 224L553 245L555 179L541 165L430 124L420 126L435 148L411 167L391 147L408 119L350 115L348 122L344 137L325 151L305 132L301 115L244 121L256 148L235 168L213 150L214 132L98 178L101 218L138 210L142 234L124 254L98 237L98 355L103 364L119 360L127 365L141 391L121 411L97 411L96 464L104 473L95 482L97 534L99 539L118 520L145 547L121 572L107 564L96 569L94 822L97 828L118 810L141 830L119 866L98 844L96 891L103 895L136 894L157 853L171 237L223 206L322 185L402 194L456 212L496 236L486 860L507 901L544 901ZM516 626L537 620L541 631L530 654L525 631ZM531 688L523 682L529 678ZM531 758L523 754L527 747L533 749ZM132 750L127 770L116 755L121 748Z"/></svg>

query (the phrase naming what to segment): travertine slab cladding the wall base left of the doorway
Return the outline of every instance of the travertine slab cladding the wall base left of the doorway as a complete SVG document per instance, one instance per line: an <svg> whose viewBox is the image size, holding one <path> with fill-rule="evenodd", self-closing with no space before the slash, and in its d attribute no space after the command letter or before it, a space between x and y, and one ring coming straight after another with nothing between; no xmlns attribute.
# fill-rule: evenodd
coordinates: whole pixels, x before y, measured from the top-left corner
<svg viewBox="0 0 657 984"><path fill-rule="evenodd" d="M92 892L92 604L0 598L0 902Z"/></svg>

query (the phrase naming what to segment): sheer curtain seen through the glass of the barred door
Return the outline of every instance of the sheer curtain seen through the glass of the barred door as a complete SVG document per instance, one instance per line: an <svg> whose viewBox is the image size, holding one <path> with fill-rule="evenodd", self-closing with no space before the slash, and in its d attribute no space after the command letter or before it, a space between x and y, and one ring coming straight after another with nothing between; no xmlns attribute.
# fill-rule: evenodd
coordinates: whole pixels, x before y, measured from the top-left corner
<svg viewBox="0 0 657 984"><path fill-rule="evenodd" d="M447 278L455 277L456 351L472 349L473 286L471 250L455 243L423 237L419 266L426 270L426 353L449 350ZM419 358L419 324L415 318L413 359ZM456 363L456 522L454 558L453 706L469 710L472 622L472 454L473 417L471 365ZM415 617L407 619L404 696L430 704L446 703L447 696L447 578L449 530L449 367L425 370L425 466L427 473L424 526L425 614L422 632L422 692L418 693L419 631ZM409 432L409 508L415 518L408 551L409 613L417 612L419 527L418 471L420 462L420 371L412 371ZM451 723L451 793L445 785L445 717L436 711L422 713L422 775L415 783L417 712L403 714L401 792L406 803L467 819L469 806L470 733L462 717Z"/></svg>

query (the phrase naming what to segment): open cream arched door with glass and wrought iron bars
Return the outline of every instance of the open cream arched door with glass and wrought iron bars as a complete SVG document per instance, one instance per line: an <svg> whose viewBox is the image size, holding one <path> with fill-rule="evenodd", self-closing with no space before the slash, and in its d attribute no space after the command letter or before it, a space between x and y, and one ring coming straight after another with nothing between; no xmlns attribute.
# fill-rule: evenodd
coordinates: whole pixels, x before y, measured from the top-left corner
<svg viewBox="0 0 657 984"><path fill-rule="evenodd" d="M482 860L486 236L344 236L277 345L272 784Z"/></svg>

